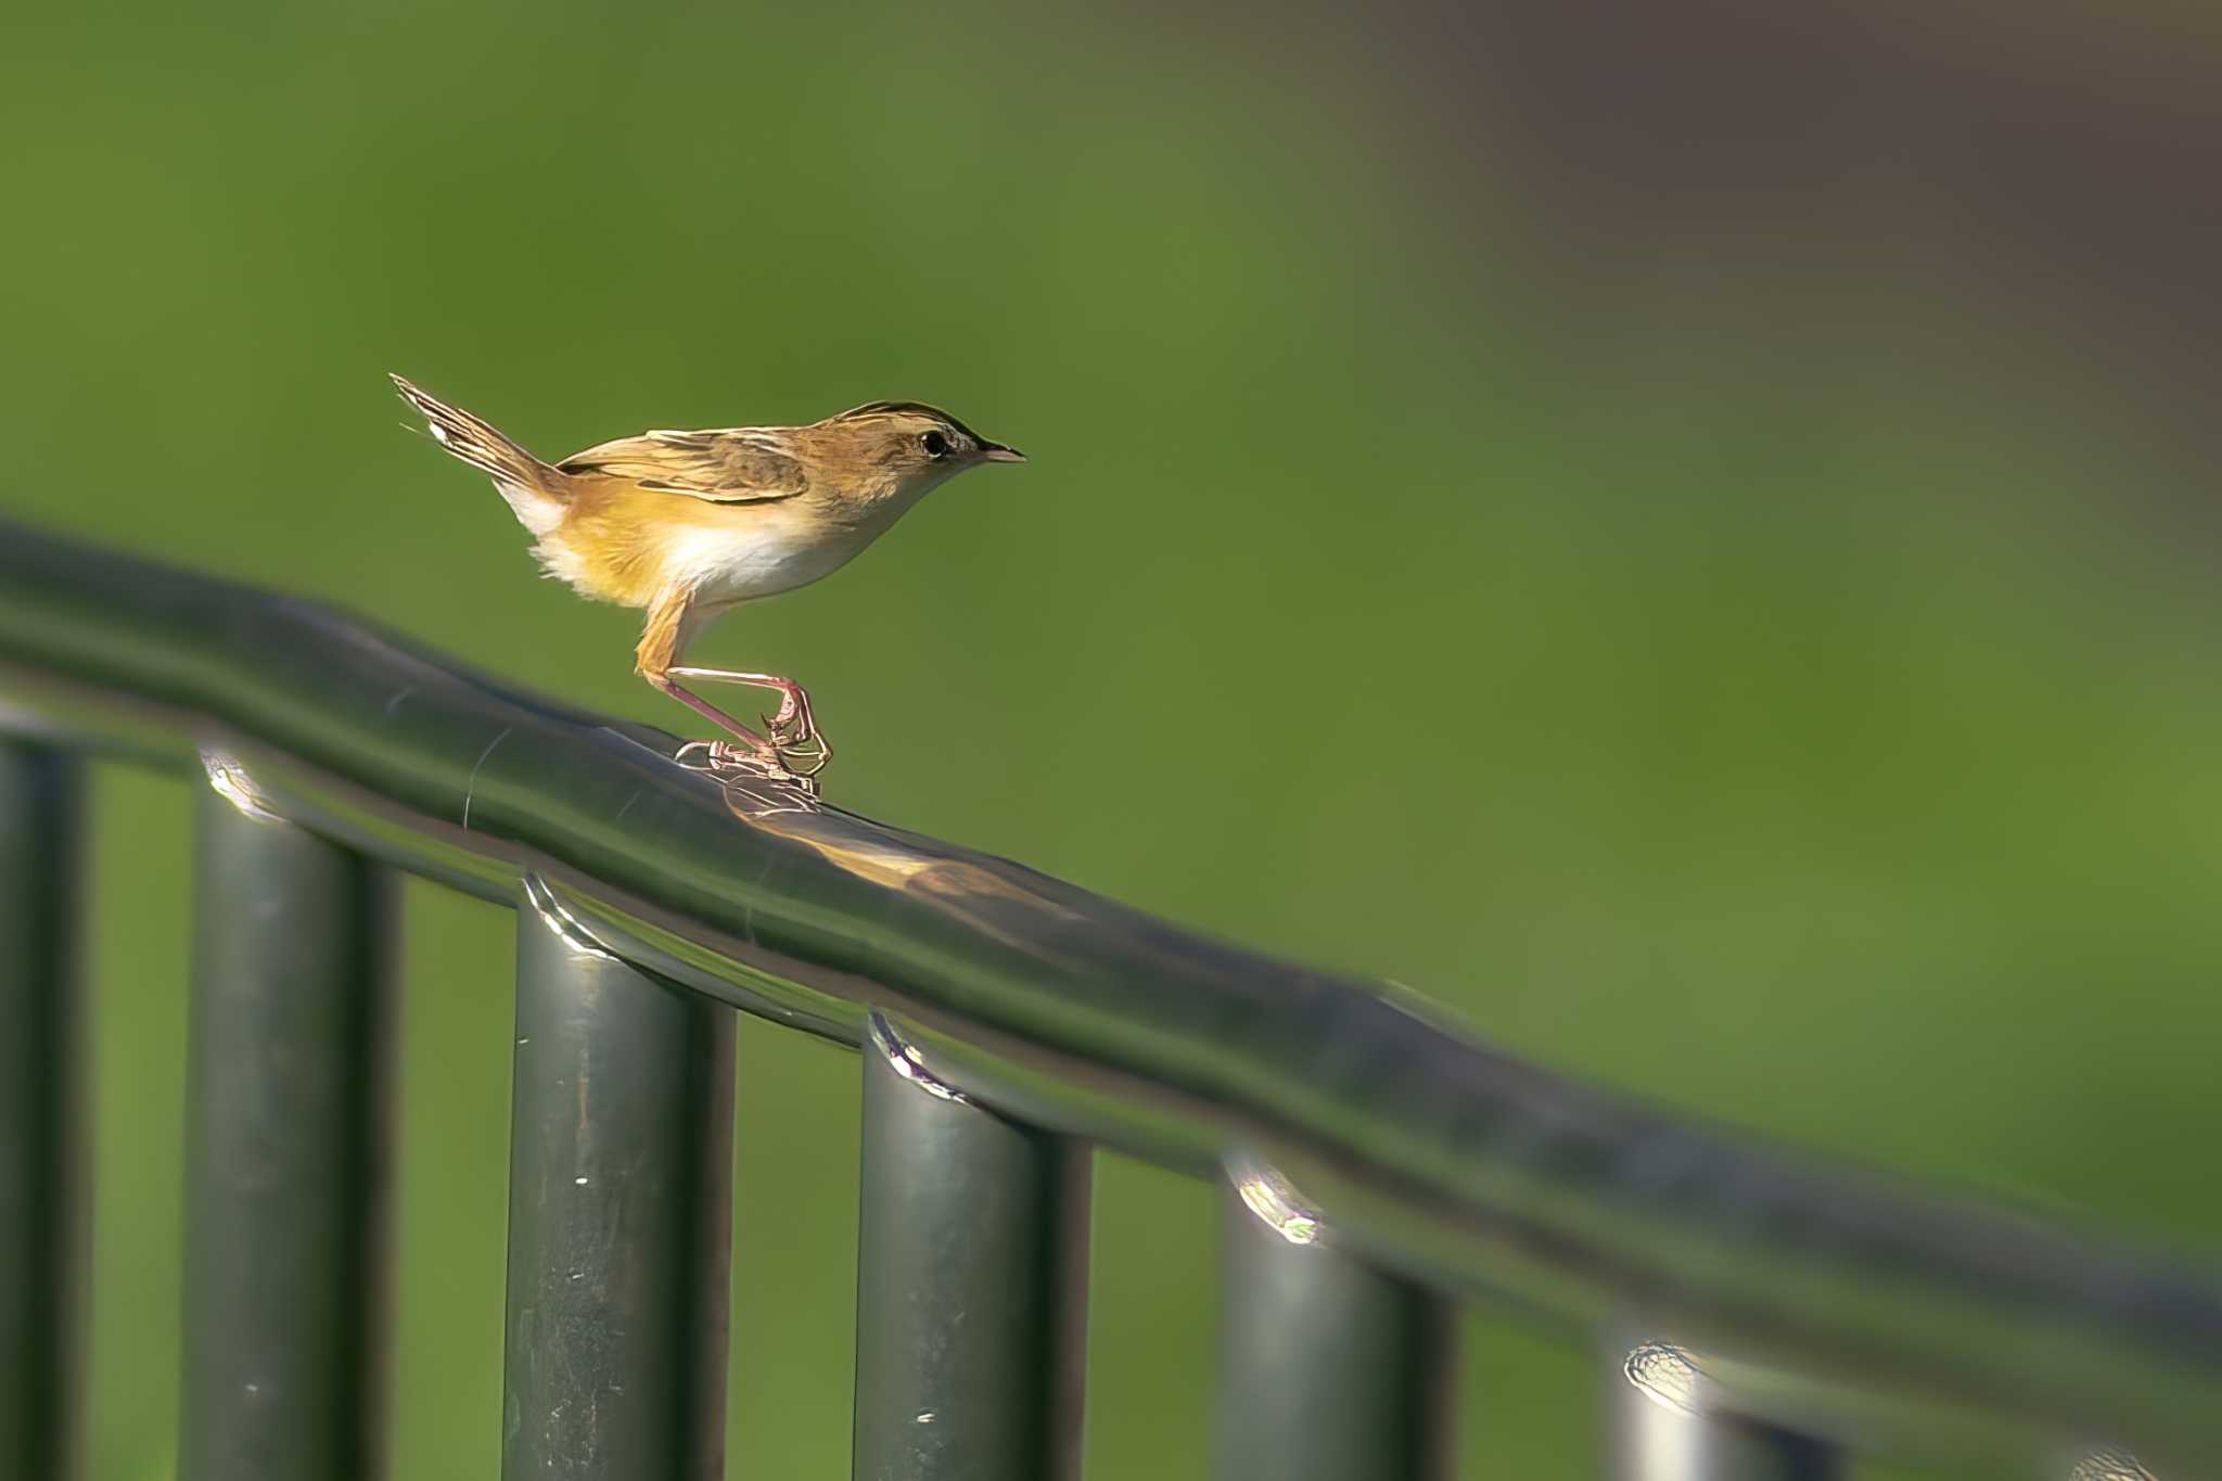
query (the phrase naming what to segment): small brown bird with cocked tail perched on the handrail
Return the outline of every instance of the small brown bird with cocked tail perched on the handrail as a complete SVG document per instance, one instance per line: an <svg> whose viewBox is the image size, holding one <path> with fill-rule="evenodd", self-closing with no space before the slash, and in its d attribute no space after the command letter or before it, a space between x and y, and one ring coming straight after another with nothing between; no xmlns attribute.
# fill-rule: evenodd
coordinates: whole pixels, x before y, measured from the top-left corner
<svg viewBox="0 0 2222 1481"><path fill-rule="evenodd" d="M840 568L935 484L982 462L1027 462L918 402L869 402L809 426L649 431L540 462L489 422L393 377L449 453L493 480L533 535L533 555L573 591L647 608L633 668L729 731L713 764L815 777L833 759L793 679L684 668L711 617ZM780 693L764 735L680 679ZM698 742L700 744L700 742Z"/></svg>

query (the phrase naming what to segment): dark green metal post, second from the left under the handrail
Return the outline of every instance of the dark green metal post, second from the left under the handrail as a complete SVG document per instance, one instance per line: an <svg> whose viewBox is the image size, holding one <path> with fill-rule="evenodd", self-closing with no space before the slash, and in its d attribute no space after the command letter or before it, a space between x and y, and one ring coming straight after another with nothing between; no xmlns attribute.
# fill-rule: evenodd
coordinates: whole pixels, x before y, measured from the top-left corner
<svg viewBox="0 0 2222 1481"><path fill-rule="evenodd" d="M209 759L187 1048L182 1481L384 1450L393 877Z"/></svg>

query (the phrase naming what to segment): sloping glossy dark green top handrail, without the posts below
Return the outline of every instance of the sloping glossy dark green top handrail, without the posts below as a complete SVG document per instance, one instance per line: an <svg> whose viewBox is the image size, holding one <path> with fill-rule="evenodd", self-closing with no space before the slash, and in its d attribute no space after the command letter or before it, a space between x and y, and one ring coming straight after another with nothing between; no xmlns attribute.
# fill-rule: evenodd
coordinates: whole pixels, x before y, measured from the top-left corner
<svg viewBox="0 0 2222 1481"><path fill-rule="evenodd" d="M313 602L0 522L0 731L204 768L376 859L529 890L553 930L720 1004L1224 1172L1291 1241L1327 1230L1582 1341L1671 1337L1753 1412L2222 1465L2209 1270L1826 1168L1511 1059L1402 990L724 784L660 731Z"/></svg>

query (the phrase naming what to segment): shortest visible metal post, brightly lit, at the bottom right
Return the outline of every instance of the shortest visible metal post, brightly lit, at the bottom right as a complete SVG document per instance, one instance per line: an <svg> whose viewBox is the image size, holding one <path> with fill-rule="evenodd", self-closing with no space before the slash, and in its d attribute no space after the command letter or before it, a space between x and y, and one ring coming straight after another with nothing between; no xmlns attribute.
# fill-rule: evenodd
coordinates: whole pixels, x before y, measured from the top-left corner
<svg viewBox="0 0 2222 1481"><path fill-rule="evenodd" d="M1829 1481L1835 1445L1722 1412L1713 1383L1682 1348L1615 1350L1609 1383L1611 1474L1618 1481Z"/></svg>

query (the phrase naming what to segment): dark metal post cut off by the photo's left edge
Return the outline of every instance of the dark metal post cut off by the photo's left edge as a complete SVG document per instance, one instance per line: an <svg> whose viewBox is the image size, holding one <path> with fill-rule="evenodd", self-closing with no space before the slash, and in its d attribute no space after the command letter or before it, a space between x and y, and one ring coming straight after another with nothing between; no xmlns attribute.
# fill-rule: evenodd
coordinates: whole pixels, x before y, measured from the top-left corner
<svg viewBox="0 0 2222 1481"><path fill-rule="evenodd" d="M82 768L0 739L0 1474L76 1472Z"/></svg>

